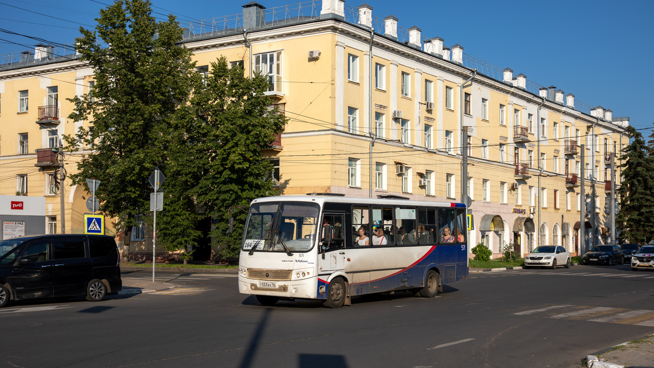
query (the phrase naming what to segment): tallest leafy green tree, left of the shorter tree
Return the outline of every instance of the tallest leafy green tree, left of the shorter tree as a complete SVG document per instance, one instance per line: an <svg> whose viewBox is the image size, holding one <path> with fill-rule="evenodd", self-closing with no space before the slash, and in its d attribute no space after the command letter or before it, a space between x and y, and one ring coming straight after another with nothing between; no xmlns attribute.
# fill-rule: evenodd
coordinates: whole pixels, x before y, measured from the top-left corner
<svg viewBox="0 0 654 368"><path fill-rule="evenodd" d="M100 210L119 219L129 239L133 216L149 209L148 176L159 166L165 172L171 139L166 133L192 88L192 53L177 43L182 29L174 16L157 22L150 1L118 0L100 10L94 31L80 27L76 48L94 69L95 86L70 99L74 121L90 121L65 137L67 150L94 142L94 151L77 164L73 182L102 181L96 192ZM87 188L88 189L88 188ZM188 203L189 197L181 197ZM174 210L174 209L172 209Z"/></svg>

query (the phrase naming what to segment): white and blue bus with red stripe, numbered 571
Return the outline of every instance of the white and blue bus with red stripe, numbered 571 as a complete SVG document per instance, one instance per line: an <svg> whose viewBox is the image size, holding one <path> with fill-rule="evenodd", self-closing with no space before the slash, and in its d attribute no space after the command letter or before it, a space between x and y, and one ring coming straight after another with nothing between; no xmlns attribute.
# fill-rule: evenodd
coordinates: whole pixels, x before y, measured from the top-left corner
<svg viewBox="0 0 654 368"><path fill-rule="evenodd" d="M388 198L390 197L390 198ZM327 193L255 199L243 234L239 292L263 305L410 290L435 297L468 276L466 207Z"/></svg>

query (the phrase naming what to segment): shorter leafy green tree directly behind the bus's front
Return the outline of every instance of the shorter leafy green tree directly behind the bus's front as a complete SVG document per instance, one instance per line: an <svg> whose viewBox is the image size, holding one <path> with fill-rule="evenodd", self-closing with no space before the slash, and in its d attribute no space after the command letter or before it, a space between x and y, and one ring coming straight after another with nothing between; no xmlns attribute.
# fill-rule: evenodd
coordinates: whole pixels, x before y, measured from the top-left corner
<svg viewBox="0 0 654 368"><path fill-rule="evenodd" d="M273 165L262 150L270 148L286 118L271 109L271 99L264 95L268 90L266 78L256 75L250 80L241 67L228 67L222 57L211 63L211 73L195 81L190 104L179 109L184 134L177 135L176 146L186 159L175 161L194 175L201 173L188 175L195 185L186 186L184 195L193 197L205 216L215 220L211 236L223 246L225 257L238 256L247 217L234 212L234 231L228 234L228 209L277 194L271 180Z"/></svg>

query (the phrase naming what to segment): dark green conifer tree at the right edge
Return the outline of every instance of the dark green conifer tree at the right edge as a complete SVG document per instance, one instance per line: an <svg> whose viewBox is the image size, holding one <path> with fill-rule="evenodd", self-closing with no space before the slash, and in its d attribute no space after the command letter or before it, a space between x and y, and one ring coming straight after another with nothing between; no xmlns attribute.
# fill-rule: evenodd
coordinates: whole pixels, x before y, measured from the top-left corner
<svg viewBox="0 0 654 368"><path fill-rule="evenodd" d="M633 141L622 150L623 180L617 190L620 210L615 226L621 242L645 244L654 239L654 158L634 127L627 127L627 134Z"/></svg>

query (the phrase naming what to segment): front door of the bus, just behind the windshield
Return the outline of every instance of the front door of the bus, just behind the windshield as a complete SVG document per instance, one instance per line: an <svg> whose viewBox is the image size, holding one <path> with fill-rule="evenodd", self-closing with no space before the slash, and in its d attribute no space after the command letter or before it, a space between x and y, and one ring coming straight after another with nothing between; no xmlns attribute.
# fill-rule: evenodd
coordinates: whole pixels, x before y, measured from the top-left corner
<svg viewBox="0 0 654 368"><path fill-rule="evenodd" d="M320 254L318 266L321 271L345 269L345 216L343 214L324 214L320 232Z"/></svg>

